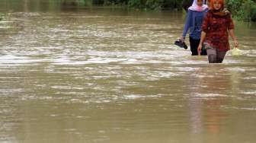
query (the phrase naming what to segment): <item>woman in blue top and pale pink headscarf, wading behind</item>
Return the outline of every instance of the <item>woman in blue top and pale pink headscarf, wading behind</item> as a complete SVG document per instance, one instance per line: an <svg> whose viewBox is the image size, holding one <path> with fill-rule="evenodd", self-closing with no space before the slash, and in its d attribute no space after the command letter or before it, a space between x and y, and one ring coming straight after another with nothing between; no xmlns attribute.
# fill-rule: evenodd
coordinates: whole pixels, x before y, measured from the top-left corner
<svg viewBox="0 0 256 143"><path fill-rule="evenodd" d="M197 47L200 43L203 17L208 11L208 6L204 5L204 1L205 0L194 0L193 4L188 8L186 22L181 36L181 42L184 43L187 31L190 30L189 41L192 56L198 55ZM206 55L206 51L202 50L200 54Z"/></svg>

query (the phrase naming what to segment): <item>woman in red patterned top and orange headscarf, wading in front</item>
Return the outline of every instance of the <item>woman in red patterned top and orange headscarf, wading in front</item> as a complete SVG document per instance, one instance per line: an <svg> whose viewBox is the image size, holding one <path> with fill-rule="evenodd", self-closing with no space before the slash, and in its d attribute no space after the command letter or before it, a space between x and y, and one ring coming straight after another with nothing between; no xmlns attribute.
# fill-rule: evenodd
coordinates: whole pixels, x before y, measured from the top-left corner
<svg viewBox="0 0 256 143"><path fill-rule="evenodd" d="M210 11L203 19L198 53L202 50L204 43L209 63L221 63L230 49L229 34L234 41L235 48L238 48L231 14L224 9L223 0L211 0Z"/></svg>

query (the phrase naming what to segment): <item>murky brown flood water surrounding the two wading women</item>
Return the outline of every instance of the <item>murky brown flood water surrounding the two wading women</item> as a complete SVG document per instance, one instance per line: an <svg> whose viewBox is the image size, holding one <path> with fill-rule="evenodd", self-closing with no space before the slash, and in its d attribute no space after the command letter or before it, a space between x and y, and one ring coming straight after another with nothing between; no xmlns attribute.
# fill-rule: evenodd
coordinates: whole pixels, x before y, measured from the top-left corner
<svg viewBox="0 0 256 143"><path fill-rule="evenodd" d="M0 142L255 142L256 24L208 64L180 12L2 4Z"/></svg>

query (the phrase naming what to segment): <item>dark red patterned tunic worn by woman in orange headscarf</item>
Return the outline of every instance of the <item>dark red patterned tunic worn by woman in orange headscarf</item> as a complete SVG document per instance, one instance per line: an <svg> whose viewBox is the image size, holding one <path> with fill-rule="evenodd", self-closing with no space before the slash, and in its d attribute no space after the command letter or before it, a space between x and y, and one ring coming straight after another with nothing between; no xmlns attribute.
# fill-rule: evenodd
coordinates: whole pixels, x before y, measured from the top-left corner
<svg viewBox="0 0 256 143"><path fill-rule="evenodd" d="M206 32L204 43L219 51L228 51L230 49L228 30L231 29L234 29L231 14L220 16L208 11L202 24L202 30Z"/></svg>

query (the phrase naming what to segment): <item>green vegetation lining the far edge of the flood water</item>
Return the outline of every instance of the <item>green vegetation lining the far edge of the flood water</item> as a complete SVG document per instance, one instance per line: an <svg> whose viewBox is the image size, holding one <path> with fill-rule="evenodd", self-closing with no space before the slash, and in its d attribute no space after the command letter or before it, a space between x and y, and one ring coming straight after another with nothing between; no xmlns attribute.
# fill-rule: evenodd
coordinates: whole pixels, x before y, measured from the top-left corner
<svg viewBox="0 0 256 143"><path fill-rule="evenodd" d="M49 10L55 11L58 8L82 6L105 6L122 7L142 11L182 10L182 2L191 0L2 0L2 5L8 3L24 2L23 8L29 8L30 4L37 5L33 9L40 8L40 5L48 5ZM0 5L0 7L2 6ZM256 0L226 0L226 6L232 12L232 16L239 21L256 21ZM16 8L16 7L15 7ZM3 16L0 14L0 21Z"/></svg>

